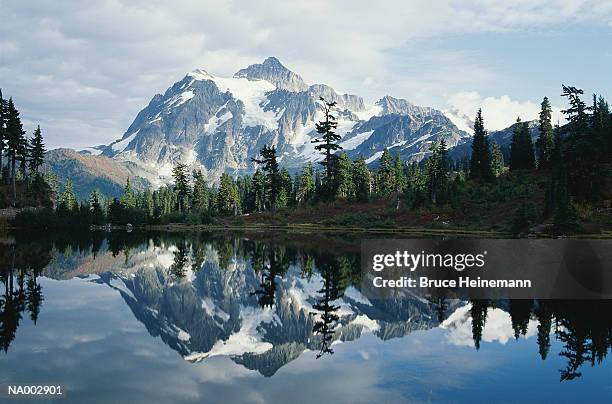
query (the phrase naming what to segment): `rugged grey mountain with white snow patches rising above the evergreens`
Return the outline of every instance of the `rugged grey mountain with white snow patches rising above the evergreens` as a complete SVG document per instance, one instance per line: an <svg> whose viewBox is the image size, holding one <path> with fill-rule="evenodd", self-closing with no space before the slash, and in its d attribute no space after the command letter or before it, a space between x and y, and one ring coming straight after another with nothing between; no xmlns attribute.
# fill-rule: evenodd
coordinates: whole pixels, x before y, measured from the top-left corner
<svg viewBox="0 0 612 404"><path fill-rule="evenodd" d="M344 150L368 163L385 147L420 160L431 142L443 138L453 147L469 138L441 111L390 96L368 105L357 95L308 85L270 57L229 78L202 69L188 73L155 95L120 139L89 152L137 167L154 185L169 181L179 161L201 168L210 181L222 172L252 173L251 157L264 144L276 145L283 166L298 169L321 158L311 143L322 118L320 97L337 102Z"/></svg>

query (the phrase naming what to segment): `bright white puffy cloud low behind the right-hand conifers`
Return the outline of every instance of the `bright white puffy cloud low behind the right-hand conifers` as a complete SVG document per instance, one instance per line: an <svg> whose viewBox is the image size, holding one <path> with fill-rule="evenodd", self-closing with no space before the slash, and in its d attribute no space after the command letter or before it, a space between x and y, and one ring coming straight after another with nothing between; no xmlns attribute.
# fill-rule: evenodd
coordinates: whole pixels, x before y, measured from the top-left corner
<svg viewBox="0 0 612 404"><path fill-rule="evenodd" d="M520 117L523 121L537 119L540 113L540 104L532 101L516 101L507 95L501 97L482 97L476 91L460 92L450 95L447 102L451 109L467 115L472 120L479 108L485 127L488 130L500 130L507 128ZM552 120L562 122L561 108L553 106Z"/></svg>

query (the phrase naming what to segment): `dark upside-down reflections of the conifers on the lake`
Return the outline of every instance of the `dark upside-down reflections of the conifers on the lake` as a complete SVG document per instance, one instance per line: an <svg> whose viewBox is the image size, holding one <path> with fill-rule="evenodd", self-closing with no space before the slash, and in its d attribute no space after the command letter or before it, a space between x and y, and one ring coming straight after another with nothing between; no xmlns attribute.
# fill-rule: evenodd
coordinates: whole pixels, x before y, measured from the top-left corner
<svg viewBox="0 0 612 404"><path fill-rule="evenodd" d="M339 315L339 299L347 287L360 287L359 251L338 252L333 247L323 248L321 243L293 243L278 239L256 237L230 237L212 233L198 234L147 234L87 233L84 235L54 234L51 240L16 239L0 242L0 345L8 351L16 331L29 318L36 324L43 305L43 289L39 276L44 274L62 278L83 260L93 260L108 251L117 256L143 246L171 246L173 262L171 275L183 278L187 268L196 272L214 253L221 269L241 261L251 264L259 287L250 294L257 304L271 309L276 304L278 285L287 275L290 266L306 281L320 277L320 287L312 302L314 318L312 336L319 339L317 358L333 354L332 343L340 339L342 326ZM81 261L76 262L76 256ZM76 263L75 263L76 262ZM59 272L58 272L59 271ZM63 271L63 272L62 272ZM205 275L204 275L205 276ZM570 381L582 376L584 366L596 366L604 362L612 348L612 301L560 301L560 300L472 300L471 316L474 347L481 347L487 316L492 309L509 313L515 338L526 335L529 322L536 320L539 356L547 360L554 338L561 344L559 355L565 359L560 369L560 380ZM432 313L441 323L450 314L448 301L436 298L431 301ZM303 321L310 321L305 319Z"/></svg>

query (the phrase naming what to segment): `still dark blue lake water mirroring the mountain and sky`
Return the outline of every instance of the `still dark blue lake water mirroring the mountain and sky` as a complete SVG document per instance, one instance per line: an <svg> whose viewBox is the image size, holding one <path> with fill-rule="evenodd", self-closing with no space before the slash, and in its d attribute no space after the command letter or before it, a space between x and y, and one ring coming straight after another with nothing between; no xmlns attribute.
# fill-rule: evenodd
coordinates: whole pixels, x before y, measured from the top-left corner
<svg viewBox="0 0 612 404"><path fill-rule="evenodd" d="M612 402L612 302L369 301L358 239L42 236L0 241L0 401Z"/></svg>

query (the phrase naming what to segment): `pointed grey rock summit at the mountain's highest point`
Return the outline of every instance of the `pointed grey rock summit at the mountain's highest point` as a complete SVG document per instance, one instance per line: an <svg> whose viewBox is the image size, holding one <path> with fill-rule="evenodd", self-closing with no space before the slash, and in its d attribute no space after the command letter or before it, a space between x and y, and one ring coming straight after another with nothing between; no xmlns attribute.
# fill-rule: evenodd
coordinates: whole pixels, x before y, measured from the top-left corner
<svg viewBox="0 0 612 404"><path fill-rule="evenodd" d="M238 70L234 77L244 77L249 80L267 80L279 90L293 92L308 90L308 85L299 75L287 69L280 60L273 56L266 58L263 63L250 65L245 69Z"/></svg>

